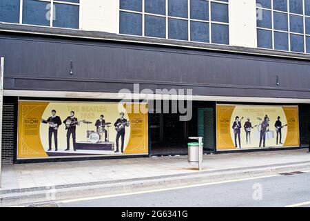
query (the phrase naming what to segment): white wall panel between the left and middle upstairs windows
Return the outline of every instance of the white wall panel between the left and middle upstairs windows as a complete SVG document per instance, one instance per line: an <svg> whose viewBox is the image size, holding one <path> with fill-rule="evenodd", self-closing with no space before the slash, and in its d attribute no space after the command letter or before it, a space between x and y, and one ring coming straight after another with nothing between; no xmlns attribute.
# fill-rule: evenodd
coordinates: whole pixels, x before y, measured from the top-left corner
<svg viewBox="0 0 310 221"><path fill-rule="evenodd" d="M118 33L117 0L81 0L81 30Z"/></svg>

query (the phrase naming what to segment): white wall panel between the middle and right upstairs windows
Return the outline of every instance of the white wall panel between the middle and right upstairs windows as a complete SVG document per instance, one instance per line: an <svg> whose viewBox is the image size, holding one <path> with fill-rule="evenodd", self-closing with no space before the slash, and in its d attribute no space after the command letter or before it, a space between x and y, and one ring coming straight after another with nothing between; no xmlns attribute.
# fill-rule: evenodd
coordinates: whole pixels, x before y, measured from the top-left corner
<svg viewBox="0 0 310 221"><path fill-rule="evenodd" d="M229 1L229 44L256 48L256 0Z"/></svg>

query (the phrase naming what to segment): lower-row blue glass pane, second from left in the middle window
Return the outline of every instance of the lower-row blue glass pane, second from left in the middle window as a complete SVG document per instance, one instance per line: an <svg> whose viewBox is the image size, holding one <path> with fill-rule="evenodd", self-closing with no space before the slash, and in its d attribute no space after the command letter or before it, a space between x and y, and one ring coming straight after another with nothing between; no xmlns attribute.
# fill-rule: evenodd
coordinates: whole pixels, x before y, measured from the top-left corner
<svg viewBox="0 0 310 221"><path fill-rule="evenodd" d="M145 36L166 37L166 18L145 15Z"/></svg>

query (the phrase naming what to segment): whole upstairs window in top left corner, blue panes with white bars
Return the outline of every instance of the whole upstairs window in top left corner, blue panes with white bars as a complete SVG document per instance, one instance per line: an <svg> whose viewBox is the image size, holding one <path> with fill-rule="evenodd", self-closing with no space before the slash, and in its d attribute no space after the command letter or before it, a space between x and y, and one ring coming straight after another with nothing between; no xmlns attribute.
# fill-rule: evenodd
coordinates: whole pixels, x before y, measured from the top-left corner
<svg viewBox="0 0 310 221"><path fill-rule="evenodd" d="M79 28L80 0L0 0L0 22Z"/></svg>

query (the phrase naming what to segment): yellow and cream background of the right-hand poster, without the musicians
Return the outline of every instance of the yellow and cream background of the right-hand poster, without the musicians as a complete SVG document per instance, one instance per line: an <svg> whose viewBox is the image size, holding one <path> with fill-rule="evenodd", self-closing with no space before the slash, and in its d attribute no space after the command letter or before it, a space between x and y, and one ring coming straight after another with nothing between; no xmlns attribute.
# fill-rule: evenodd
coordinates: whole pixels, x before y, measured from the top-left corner
<svg viewBox="0 0 310 221"><path fill-rule="evenodd" d="M235 146L235 134L232 128L236 116L241 120L241 149L245 148L259 148L260 132L258 131L259 124L268 115L269 131L274 135L265 141L265 148L277 148L288 146L299 146L299 122L298 122L298 106L249 106L249 105L224 105L218 104L216 106L216 136L217 136L217 149L232 150L237 149ZM276 128L274 124L281 118L282 126L282 143L276 144ZM245 122L247 118L250 119L252 126L251 129L251 142L247 143L245 133ZM239 145L237 145L239 148ZM263 146L261 146L263 148Z"/></svg>

